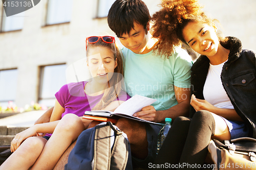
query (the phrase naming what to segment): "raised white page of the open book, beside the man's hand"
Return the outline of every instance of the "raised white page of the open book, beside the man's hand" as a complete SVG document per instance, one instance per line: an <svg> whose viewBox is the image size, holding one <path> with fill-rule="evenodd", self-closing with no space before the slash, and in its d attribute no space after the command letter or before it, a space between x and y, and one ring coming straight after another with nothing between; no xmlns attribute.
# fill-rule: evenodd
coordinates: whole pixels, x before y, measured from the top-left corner
<svg viewBox="0 0 256 170"><path fill-rule="evenodd" d="M122 113L132 116L134 113L141 111L143 107L151 105L156 101L157 100L155 99L147 98L145 96L136 94L132 98L118 106L114 113Z"/></svg>

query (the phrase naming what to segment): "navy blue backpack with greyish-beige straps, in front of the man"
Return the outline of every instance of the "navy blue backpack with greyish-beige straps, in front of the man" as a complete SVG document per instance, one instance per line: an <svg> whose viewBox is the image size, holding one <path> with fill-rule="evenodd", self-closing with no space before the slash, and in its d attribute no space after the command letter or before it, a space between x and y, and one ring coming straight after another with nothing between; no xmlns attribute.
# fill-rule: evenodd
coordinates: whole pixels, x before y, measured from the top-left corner
<svg viewBox="0 0 256 170"><path fill-rule="evenodd" d="M133 169L126 134L111 122L84 130L65 165L65 170L72 169Z"/></svg>

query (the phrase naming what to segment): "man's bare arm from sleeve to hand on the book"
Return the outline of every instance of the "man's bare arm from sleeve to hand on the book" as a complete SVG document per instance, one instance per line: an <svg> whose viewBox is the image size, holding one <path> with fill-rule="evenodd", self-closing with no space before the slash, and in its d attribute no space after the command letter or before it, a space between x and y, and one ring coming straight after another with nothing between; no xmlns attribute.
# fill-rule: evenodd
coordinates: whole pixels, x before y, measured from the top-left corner
<svg viewBox="0 0 256 170"><path fill-rule="evenodd" d="M156 111L153 106L146 106L140 112L135 113L134 116L157 123L164 122L166 117L175 119L178 116L188 116L190 88L175 86L175 96L178 104L167 110Z"/></svg>

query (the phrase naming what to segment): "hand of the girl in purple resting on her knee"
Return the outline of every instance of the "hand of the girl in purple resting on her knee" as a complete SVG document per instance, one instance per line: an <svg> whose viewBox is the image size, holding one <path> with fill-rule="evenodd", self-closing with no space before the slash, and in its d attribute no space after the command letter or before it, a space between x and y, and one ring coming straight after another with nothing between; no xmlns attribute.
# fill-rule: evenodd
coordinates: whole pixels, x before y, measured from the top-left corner
<svg viewBox="0 0 256 170"><path fill-rule="evenodd" d="M22 144L22 142L31 137L36 136L36 129L35 126L26 129L25 131L22 131L15 135L14 139L11 141L11 152L14 152L18 149L19 145Z"/></svg>

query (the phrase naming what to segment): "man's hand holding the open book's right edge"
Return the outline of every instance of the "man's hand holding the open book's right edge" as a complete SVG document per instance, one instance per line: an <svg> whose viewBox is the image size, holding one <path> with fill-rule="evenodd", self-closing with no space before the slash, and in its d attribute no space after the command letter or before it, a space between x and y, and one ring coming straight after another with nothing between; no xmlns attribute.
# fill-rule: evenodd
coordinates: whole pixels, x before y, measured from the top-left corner
<svg viewBox="0 0 256 170"><path fill-rule="evenodd" d="M156 122L158 118L156 109L154 108L154 106L151 106L151 105L143 107L140 112L134 113L133 116L142 118L144 120L148 120L151 122Z"/></svg>

